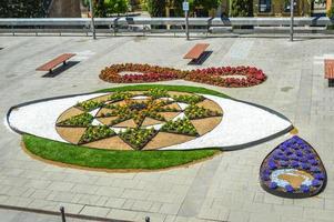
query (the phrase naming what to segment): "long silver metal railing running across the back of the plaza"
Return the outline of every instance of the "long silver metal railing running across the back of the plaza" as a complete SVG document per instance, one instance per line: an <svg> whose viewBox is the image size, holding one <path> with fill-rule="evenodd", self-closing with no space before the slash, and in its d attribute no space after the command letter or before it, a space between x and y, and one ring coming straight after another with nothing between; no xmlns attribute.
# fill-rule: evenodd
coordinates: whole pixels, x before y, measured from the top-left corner
<svg viewBox="0 0 334 222"><path fill-rule="evenodd" d="M277 28L282 30L290 26L290 18L190 18L190 31L210 32L213 28L232 30L232 27L251 26L259 28ZM122 31L140 32L178 32L185 24L184 18L97 18L97 32L118 33ZM294 27L301 29L323 29L334 26L334 20L326 17L300 17L294 19ZM311 28L310 28L311 27ZM41 18L41 19L0 19L0 32L90 32L89 18ZM272 31L274 32L274 31Z"/></svg>

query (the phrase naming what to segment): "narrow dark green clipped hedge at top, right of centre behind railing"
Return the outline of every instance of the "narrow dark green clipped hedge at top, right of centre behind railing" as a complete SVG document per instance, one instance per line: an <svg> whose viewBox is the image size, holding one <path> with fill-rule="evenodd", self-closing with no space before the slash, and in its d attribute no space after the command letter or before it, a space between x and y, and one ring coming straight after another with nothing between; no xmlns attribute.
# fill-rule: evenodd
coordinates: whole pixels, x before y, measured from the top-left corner
<svg viewBox="0 0 334 222"><path fill-rule="evenodd" d="M231 0L230 17L253 17L253 0Z"/></svg>

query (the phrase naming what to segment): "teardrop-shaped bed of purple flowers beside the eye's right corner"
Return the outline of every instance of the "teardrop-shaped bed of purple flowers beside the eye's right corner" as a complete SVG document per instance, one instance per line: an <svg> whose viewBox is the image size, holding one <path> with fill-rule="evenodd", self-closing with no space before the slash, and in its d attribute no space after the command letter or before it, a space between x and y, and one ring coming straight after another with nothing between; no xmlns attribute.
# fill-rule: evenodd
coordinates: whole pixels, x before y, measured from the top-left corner
<svg viewBox="0 0 334 222"><path fill-rule="evenodd" d="M276 147L260 168L261 186L283 198L308 198L326 185L326 170L316 151L293 137Z"/></svg>

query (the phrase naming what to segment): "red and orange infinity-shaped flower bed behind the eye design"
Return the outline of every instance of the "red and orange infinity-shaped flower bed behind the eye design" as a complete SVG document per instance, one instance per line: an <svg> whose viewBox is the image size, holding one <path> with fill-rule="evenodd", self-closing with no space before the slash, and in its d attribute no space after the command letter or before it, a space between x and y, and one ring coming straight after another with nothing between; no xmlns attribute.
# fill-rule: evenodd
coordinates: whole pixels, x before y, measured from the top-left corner
<svg viewBox="0 0 334 222"><path fill-rule="evenodd" d="M101 71L100 78L113 83L142 83L184 79L227 88L252 87L266 80L263 71L254 67L221 67L183 71L133 63L113 64L105 68Z"/></svg>

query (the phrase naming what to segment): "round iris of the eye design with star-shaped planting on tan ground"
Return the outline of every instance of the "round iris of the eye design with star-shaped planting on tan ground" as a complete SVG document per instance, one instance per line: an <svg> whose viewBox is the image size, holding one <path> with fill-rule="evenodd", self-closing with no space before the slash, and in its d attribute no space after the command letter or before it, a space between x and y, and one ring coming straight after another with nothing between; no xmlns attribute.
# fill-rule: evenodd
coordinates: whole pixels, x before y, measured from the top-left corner
<svg viewBox="0 0 334 222"><path fill-rule="evenodd" d="M210 132L222 115L221 107L202 95L151 89L80 102L59 117L55 128L73 144L155 150Z"/></svg>

